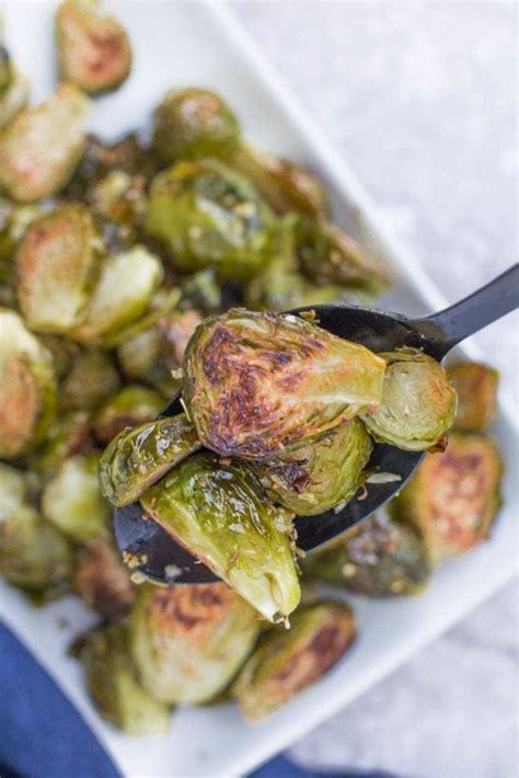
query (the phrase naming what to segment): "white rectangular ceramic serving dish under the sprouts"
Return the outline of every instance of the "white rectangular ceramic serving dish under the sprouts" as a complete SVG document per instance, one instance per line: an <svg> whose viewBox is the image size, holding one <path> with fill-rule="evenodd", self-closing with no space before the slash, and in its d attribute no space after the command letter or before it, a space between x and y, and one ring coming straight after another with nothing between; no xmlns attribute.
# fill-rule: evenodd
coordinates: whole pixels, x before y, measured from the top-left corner
<svg viewBox="0 0 519 778"><path fill-rule="evenodd" d="M33 79L33 96L41 99L55 79L53 3L14 0L4 5L8 44ZM116 138L145 126L169 87L215 88L237 108L246 134L257 145L305 161L326 180L335 213L379 254L394 278L394 293L384 300L388 308L406 313L441 308L445 300L439 291L413 256L385 234L374 204L231 12L221 4L152 0L118 2L117 12L131 35L135 68L123 89L96 101L94 131ZM34 609L7 585L0 593L0 614L77 706L125 775L243 775L346 706L512 576L517 425L506 408L501 408L495 434L509 473L505 507L492 540L465 559L446 564L419 598L367 602L350 597L359 628L355 647L325 678L264 723L249 725L234 706L224 705L176 712L168 735L142 740L120 734L97 717L85 695L80 666L66 655L71 636L94 621L92 614L72 598Z"/></svg>

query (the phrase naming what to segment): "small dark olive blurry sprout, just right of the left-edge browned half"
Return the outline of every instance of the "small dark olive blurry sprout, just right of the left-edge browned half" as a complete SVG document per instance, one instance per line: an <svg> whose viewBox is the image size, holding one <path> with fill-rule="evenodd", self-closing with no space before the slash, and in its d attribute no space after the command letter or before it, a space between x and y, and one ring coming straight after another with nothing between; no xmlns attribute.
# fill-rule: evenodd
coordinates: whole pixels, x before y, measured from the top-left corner
<svg viewBox="0 0 519 778"><path fill-rule="evenodd" d="M59 404L69 411L91 410L119 386L120 378L109 356L85 348L72 356L72 365L59 387Z"/></svg>

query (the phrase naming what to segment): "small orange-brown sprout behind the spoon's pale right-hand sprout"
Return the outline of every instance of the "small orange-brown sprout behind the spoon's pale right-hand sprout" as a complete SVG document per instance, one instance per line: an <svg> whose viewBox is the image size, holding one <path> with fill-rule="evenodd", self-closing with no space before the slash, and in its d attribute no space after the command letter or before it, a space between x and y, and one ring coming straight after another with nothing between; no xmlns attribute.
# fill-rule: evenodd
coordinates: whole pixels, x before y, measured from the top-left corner
<svg viewBox="0 0 519 778"><path fill-rule="evenodd" d="M499 374L476 362L460 362L448 370L458 394L454 428L485 432L495 419Z"/></svg>

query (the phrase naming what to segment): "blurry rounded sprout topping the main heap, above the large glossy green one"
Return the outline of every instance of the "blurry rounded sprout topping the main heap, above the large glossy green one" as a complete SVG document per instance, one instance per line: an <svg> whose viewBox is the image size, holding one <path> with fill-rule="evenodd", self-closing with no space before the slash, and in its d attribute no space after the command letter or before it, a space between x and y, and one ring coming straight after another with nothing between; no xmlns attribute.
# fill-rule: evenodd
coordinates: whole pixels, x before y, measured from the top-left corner
<svg viewBox="0 0 519 778"><path fill-rule="evenodd" d="M207 89L170 90L153 114L153 148L164 162L226 159L238 148L240 125L227 103Z"/></svg>

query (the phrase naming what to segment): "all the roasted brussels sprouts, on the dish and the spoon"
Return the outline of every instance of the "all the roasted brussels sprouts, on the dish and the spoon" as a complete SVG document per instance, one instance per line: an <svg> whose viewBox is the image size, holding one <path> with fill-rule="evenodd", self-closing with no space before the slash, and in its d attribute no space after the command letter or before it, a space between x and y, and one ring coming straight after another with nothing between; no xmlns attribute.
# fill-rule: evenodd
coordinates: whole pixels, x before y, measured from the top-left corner
<svg viewBox="0 0 519 778"><path fill-rule="evenodd" d="M488 535L497 375L281 316L388 287L323 184L204 89L166 93L149 145L88 135L130 42L96 0L55 25L60 83L36 107L0 42L0 572L99 614L73 653L115 726L164 732L172 707L229 698L257 720L355 639L313 582L413 594ZM159 417L181 389L185 413ZM372 438L441 449L453 422L388 513L296 562L293 517L353 499ZM137 500L222 581L137 585L111 525Z"/></svg>

